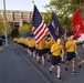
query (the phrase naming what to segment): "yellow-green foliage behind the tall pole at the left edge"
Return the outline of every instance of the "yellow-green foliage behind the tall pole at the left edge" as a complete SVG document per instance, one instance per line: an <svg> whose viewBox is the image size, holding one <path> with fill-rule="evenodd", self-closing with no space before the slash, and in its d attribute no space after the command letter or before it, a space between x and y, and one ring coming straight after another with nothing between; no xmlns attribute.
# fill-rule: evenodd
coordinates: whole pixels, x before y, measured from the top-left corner
<svg viewBox="0 0 84 83"><path fill-rule="evenodd" d="M7 33L8 35L11 33L12 28L9 23L7 23ZM0 34L4 34L4 22L0 22Z"/></svg>

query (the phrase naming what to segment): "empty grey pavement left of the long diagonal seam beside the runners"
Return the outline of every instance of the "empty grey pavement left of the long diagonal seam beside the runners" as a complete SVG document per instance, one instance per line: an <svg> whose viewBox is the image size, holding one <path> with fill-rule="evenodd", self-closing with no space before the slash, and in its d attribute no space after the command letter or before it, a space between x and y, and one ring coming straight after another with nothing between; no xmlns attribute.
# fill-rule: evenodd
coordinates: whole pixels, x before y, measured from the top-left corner
<svg viewBox="0 0 84 83"><path fill-rule="evenodd" d="M0 83L45 83L15 45L9 45L0 52Z"/></svg>

